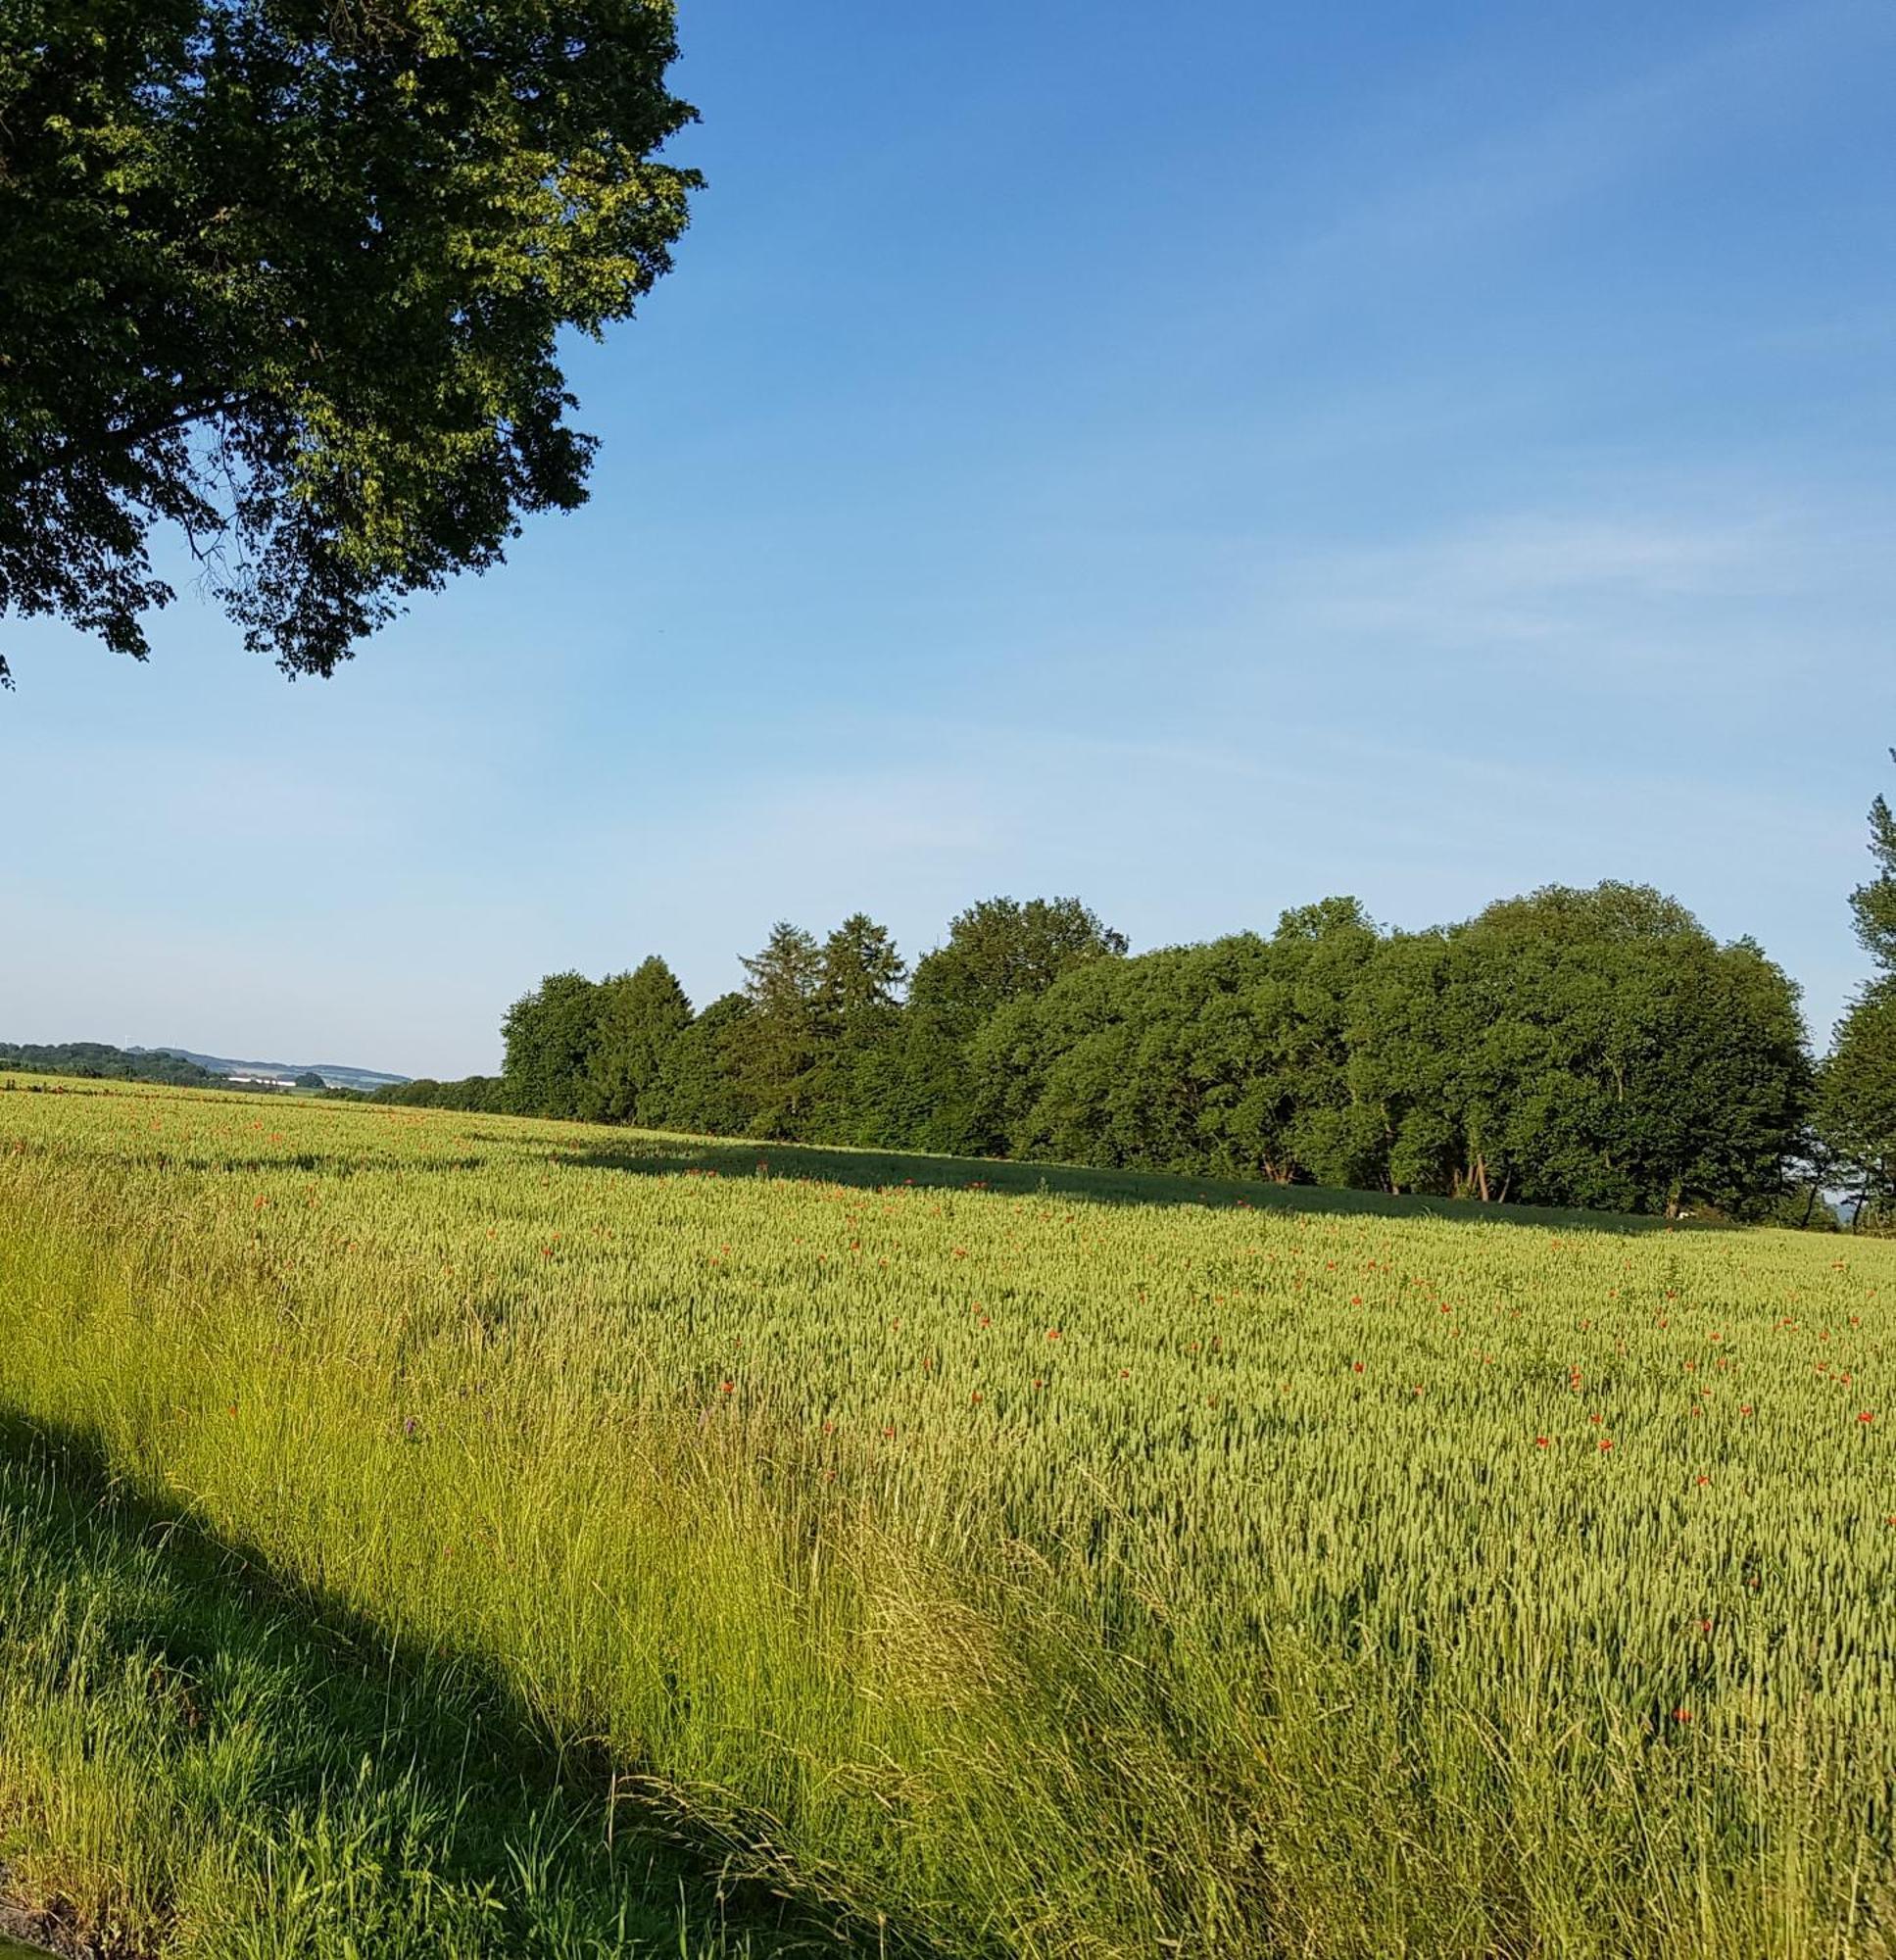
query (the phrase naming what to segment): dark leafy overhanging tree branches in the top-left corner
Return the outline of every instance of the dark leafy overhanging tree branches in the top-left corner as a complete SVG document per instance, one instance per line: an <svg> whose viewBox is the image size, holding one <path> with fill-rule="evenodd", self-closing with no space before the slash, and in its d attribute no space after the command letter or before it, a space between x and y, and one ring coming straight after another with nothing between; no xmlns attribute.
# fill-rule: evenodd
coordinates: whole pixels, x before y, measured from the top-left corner
<svg viewBox="0 0 1896 1960"><path fill-rule="evenodd" d="M0 613L143 659L168 521L327 674L582 502L556 341L670 265L674 51L668 0L10 0Z"/></svg>

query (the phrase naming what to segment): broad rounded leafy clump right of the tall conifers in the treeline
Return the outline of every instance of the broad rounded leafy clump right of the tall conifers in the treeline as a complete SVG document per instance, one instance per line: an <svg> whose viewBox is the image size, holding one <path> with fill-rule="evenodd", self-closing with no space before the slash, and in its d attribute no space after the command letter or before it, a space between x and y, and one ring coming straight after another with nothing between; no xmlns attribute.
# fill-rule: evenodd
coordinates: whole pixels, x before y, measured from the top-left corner
<svg viewBox="0 0 1896 1960"><path fill-rule="evenodd" d="M1784 974L1626 886L1391 939L1328 900L1079 966L972 1054L1013 1154L1616 1211L1780 1188L1810 1090Z"/></svg>

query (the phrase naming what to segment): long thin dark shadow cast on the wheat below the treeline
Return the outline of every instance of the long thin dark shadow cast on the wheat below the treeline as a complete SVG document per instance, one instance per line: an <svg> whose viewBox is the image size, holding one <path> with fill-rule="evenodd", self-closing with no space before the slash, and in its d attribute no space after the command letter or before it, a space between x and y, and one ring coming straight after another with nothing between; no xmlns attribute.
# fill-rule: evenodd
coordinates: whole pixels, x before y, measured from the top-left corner
<svg viewBox="0 0 1896 1960"><path fill-rule="evenodd" d="M815 1143L742 1143L715 1137L601 1131L597 1147L552 1147L562 1164L635 1176L789 1178L860 1190L1005 1192L1107 1205L1210 1205L1228 1211L1281 1211L1318 1217L1447 1219L1457 1225L1532 1225L1536 1231L1690 1231L1692 1221L1618 1211L1561 1211L1547 1205L1481 1203L1473 1198L1393 1198L1387 1192L1318 1184L1259 1184L1163 1170L1091 1170L991 1156L928 1156ZM623 1145L603 1139L625 1135ZM499 1139L496 1139L499 1141ZM511 1141L511 1139L509 1139Z"/></svg>

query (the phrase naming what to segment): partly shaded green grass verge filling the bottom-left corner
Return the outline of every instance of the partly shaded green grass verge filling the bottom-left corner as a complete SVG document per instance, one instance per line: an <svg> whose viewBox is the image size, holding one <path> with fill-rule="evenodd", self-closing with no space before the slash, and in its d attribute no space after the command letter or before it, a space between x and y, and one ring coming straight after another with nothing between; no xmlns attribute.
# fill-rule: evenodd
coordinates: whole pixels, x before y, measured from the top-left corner
<svg viewBox="0 0 1896 1960"><path fill-rule="evenodd" d="M633 1817L607 1844L492 1672L274 1584L257 1544L12 1411L0 1652L0 1960L43 1952L8 1942L16 1917L63 1952L165 1960L776 1944L719 1938L709 1874Z"/></svg>

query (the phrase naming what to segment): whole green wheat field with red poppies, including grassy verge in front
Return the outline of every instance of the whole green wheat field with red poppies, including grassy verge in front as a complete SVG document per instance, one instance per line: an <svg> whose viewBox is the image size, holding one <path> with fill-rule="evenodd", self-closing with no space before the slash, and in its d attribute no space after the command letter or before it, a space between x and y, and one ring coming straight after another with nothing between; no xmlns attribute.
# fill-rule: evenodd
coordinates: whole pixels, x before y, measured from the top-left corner
<svg viewBox="0 0 1896 1960"><path fill-rule="evenodd" d="M180 1954L1888 1954L1892 1299L0 1086L0 1862Z"/></svg>

